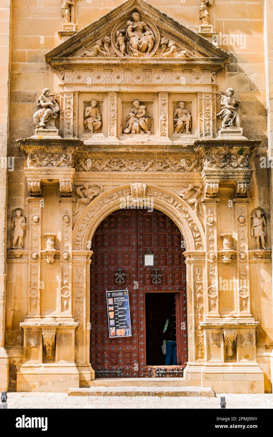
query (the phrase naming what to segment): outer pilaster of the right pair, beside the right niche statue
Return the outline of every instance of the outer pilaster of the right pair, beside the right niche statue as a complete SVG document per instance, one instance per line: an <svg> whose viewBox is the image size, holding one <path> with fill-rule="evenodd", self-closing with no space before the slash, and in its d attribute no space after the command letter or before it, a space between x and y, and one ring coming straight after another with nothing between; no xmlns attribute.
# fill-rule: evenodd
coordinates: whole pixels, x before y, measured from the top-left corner
<svg viewBox="0 0 273 437"><path fill-rule="evenodd" d="M237 314L239 317L252 317L250 313L249 292L249 253L248 218L249 198L234 198L235 232L237 236Z"/></svg>

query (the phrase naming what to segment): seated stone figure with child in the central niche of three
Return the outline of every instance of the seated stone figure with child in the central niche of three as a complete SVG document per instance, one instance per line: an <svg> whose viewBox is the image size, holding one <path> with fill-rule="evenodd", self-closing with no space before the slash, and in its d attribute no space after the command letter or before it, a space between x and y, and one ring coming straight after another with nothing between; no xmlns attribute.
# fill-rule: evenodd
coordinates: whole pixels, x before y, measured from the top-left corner
<svg viewBox="0 0 273 437"><path fill-rule="evenodd" d="M143 133L150 134L150 127L153 118L145 117L147 107L140 105L138 100L133 102L133 108L126 118L126 128L123 130L125 134Z"/></svg>

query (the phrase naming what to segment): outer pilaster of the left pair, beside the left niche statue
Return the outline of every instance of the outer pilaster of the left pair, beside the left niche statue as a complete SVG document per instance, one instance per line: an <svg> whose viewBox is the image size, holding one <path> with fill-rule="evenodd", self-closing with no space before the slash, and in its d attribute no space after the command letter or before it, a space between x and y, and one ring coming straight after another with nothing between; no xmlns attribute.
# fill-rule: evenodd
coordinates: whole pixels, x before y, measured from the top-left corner
<svg viewBox="0 0 273 437"><path fill-rule="evenodd" d="M41 211L44 199L29 197L28 318L39 318L41 274Z"/></svg>

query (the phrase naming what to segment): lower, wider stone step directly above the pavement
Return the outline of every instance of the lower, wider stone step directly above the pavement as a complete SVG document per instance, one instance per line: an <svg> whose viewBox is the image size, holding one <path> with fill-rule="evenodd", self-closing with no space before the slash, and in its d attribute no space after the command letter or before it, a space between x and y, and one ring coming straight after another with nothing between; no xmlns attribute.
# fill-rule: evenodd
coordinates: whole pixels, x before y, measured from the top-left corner
<svg viewBox="0 0 273 437"><path fill-rule="evenodd" d="M89 387L70 388L68 396L204 396L215 397L209 387Z"/></svg>

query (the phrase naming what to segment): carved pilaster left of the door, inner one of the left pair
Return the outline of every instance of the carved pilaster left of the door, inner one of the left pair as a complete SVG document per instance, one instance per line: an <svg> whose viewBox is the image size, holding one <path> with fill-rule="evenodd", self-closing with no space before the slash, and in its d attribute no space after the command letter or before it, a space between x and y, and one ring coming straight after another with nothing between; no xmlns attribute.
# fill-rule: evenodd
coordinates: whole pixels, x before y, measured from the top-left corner
<svg viewBox="0 0 273 437"><path fill-rule="evenodd" d="M59 198L61 214L60 285L58 313L72 318L72 214L75 198Z"/></svg>

